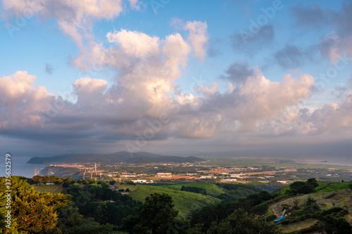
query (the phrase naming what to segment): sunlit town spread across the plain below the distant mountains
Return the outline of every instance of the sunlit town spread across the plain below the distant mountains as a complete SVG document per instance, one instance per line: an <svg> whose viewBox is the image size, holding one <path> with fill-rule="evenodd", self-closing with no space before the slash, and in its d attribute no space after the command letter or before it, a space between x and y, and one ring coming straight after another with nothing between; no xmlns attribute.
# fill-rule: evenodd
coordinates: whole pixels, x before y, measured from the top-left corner
<svg viewBox="0 0 352 234"><path fill-rule="evenodd" d="M196 163L49 164L39 174L117 183L254 183L260 187L279 188L307 177L351 181L351 172L352 167L298 164L288 160L266 160L264 163L256 159L210 159Z"/></svg>

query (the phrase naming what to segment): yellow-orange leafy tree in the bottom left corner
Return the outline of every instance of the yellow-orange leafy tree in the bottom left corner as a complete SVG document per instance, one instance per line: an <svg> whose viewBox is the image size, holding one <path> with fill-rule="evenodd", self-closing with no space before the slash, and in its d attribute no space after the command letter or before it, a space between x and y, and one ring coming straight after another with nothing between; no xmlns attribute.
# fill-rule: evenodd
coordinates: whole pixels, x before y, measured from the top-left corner
<svg viewBox="0 0 352 234"><path fill-rule="evenodd" d="M35 176L34 176L35 177ZM13 214L10 233L39 233L53 229L57 222L57 211L70 203L69 195L39 193L18 176L11 176L11 212ZM6 180L0 181L0 212L4 214Z"/></svg>

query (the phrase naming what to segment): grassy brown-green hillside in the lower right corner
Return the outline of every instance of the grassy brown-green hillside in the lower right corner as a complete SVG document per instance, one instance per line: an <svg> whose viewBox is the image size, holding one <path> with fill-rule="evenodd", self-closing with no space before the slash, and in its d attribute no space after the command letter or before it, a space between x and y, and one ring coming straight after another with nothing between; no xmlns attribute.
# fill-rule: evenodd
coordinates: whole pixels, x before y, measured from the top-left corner
<svg viewBox="0 0 352 234"><path fill-rule="evenodd" d="M348 188L351 183L318 181L318 184L313 193L284 197L272 202L268 205L269 210L266 215L275 214L279 219L282 216L282 207L287 207L290 214L286 216L285 221L279 223L284 233L312 233L315 228L322 225L322 220L327 219L325 217L329 210L334 211L331 212L331 216L336 219L344 218L351 223L352 214L348 214L352 207L352 190ZM288 194L289 190L290 187L285 186L276 193L282 197ZM310 199L313 199L313 204L316 202L318 206L307 207L307 201ZM339 209L345 210L347 214L339 212ZM329 217L329 219L333 218Z"/></svg>

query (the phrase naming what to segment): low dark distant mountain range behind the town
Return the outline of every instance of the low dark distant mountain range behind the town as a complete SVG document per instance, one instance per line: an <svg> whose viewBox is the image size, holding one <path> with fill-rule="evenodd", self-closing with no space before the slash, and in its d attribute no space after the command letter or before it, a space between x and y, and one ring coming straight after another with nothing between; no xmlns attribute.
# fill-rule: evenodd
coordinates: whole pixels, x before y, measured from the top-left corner
<svg viewBox="0 0 352 234"><path fill-rule="evenodd" d="M150 152L130 153L127 151L115 152L110 155L82 154L82 155L57 155L52 157L32 157L27 163L30 164L54 164L54 163L89 163L116 164L120 162L134 164L148 164L153 162L202 162L199 157L180 157L158 155Z"/></svg>

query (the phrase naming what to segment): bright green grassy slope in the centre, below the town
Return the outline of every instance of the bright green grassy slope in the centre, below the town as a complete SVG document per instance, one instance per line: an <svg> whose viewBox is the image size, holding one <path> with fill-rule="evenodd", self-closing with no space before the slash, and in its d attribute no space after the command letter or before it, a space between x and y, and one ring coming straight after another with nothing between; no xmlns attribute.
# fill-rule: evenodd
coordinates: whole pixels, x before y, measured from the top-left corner
<svg viewBox="0 0 352 234"><path fill-rule="evenodd" d="M190 193L169 186L144 186L137 185L137 189L130 193L134 200L144 202L145 198L151 193L166 193L172 196L175 208L179 211L180 216L186 217L191 211L205 207L207 204L219 203L220 200L208 195Z"/></svg>

